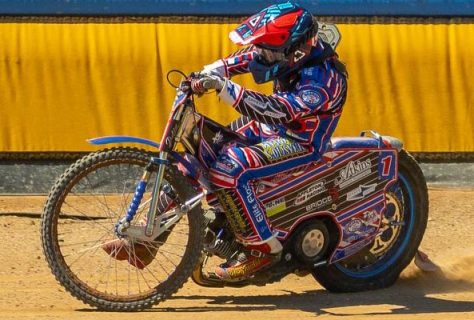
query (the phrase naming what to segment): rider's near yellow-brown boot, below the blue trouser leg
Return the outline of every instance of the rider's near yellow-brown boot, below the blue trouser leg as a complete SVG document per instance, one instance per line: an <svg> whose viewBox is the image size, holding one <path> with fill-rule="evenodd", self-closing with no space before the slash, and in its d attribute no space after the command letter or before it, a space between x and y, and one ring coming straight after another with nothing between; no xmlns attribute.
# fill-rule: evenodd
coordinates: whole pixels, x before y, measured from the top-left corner
<svg viewBox="0 0 474 320"><path fill-rule="evenodd" d="M226 281L239 281L246 279L255 272L269 267L280 259L283 247L275 236L263 243L245 246L232 260L221 264L215 269L215 274Z"/></svg>

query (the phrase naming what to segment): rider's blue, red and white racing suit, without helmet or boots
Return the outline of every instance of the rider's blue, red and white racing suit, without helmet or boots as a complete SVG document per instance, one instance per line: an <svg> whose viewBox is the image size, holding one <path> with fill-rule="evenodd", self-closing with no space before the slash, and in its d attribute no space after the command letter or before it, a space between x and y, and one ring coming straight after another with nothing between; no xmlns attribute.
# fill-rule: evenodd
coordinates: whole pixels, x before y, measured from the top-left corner
<svg viewBox="0 0 474 320"><path fill-rule="evenodd" d="M327 46L319 40L312 48L312 61L327 52ZM237 208L244 215L245 228L237 232L243 243L258 244L273 236L253 181L317 161L327 148L347 92L347 74L332 53L317 63L306 63L285 81L275 81L271 95L244 89L230 80L219 93L243 115L231 128L255 142L222 150L210 171L212 183L226 188L221 204L226 202L228 208ZM205 70L231 78L249 72L255 55L249 47ZM234 203L229 206L229 201Z"/></svg>

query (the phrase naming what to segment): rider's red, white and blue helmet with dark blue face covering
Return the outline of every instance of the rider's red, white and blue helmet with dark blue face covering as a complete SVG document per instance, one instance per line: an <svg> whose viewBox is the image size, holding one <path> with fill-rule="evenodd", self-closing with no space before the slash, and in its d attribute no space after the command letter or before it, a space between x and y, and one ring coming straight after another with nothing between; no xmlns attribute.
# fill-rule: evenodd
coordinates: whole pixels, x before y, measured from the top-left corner
<svg viewBox="0 0 474 320"><path fill-rule="evenodd" d="M314 39L318 24L312 14L289 1L269 6L247 18L229 38L237 45L254 45L257 48L280 53L282 59L268 63L257 56L249 70L257 83L264 83L289 74L306 59L294 57L294 52ZM306 55L309 56L308 52Z"/></svg>

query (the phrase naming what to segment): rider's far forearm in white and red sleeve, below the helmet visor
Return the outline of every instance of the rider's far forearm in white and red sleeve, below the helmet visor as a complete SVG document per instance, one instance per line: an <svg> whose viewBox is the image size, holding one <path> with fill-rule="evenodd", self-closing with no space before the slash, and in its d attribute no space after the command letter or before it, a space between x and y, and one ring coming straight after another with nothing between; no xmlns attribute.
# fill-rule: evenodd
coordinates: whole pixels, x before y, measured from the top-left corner
<svg viewBox="0 0 474 320"><path fill-rule="evenodd" d="M248 65L255 55L254 47L250 46L204 66L203 71L230 79L235 75L249 72Z"/></svg>

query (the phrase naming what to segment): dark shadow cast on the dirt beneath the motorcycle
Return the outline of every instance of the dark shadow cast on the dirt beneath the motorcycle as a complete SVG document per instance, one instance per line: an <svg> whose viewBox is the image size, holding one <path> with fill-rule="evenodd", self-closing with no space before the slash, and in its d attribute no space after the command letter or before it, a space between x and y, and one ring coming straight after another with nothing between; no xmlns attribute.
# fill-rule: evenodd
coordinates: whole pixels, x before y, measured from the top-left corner
<svg viewBox="0 0 474 320"><path fill-rule="evenodd" d="M470 258L474 261L474 258ZM471 261L468 261L470 263ZM458 264L459 266L459 264ZM455 269L455 268L454 268ZM258 291L258 288L256 289ZM316 315L339 316L461 313L474 311L474 301L462 300L462 292L472 292L474 283L458 279L453 269L447 272L413 271L401 277L391 288L351 294L334 294L325 290L304 293L286 291L287 295L246 296L175 296L171 299L206 300L202 307L157 308L150 312L212 312L269 311L289 309ZM460 294L457 301L446 300L441 294ZM434 297L434 295L437 295Z"/></svg>

